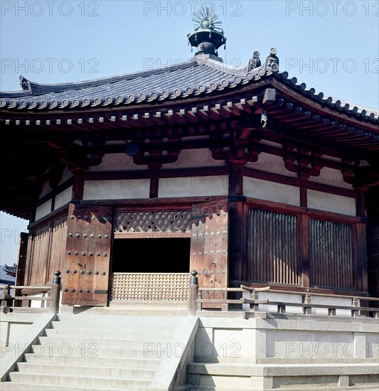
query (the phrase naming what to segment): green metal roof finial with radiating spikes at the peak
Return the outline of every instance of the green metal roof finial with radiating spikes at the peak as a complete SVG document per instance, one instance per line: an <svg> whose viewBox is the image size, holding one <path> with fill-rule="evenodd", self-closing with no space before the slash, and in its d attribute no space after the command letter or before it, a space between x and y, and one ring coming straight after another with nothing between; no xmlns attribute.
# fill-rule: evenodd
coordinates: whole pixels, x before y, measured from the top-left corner
<svg viewBox="0 0 379 391"><path fill-rule="evenodd" d="M192 21L197 24L195 30L187 36L191 46L198 48L198 53L195 55L205 55L207 58L223 61L218 57L217 50L221 45L226 44L226 38L223 29L217 26L221 22L218 21L214 6L203 6L195 11Z"/></svg>

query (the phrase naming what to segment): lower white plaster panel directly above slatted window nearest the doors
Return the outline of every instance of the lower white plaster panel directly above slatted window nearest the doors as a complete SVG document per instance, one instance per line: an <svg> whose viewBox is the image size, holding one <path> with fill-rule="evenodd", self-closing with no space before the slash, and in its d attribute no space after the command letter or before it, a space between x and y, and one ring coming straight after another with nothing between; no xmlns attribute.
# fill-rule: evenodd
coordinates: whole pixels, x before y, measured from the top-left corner
<svg viewBox="0 0 379 391"><path fill-rule="evenodd" d="M247 176L243 178L243 195L287 205L300 205L299 188Z"/></svg>

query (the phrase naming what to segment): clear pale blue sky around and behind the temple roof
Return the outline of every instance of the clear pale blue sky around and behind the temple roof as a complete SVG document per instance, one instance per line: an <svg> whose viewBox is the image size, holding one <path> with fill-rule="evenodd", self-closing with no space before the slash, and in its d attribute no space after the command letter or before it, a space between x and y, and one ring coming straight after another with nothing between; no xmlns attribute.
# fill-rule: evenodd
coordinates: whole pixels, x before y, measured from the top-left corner
<svg viewBox="0 0 379 391"><path fill-rule="evenodd" d="M0 90L18 76L73 82L172 65L188 58L191 13L215 7L235 66L277 48L280 70L365 107L379 107L378 1L0 1ZM26 222L0 215L1 261L16 260ZM11 235L14 232L14 235ZM11 236L11 237L9 237ZM4 260L6 260L4 262Z"/></svg>

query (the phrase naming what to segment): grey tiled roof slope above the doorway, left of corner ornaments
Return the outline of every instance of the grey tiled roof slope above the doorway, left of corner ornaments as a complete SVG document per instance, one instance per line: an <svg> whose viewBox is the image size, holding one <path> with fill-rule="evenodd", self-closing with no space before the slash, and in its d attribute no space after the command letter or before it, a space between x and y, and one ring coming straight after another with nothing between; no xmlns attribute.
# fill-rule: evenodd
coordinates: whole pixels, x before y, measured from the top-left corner
<svg viewBox="0 0 379 391"><path fill-rule="evenodd" d="M186 65L186 66L184 66ZM106 79L101 84L82 85L75 83L60 86L43 95L12 95L0 98L0 112L51 112L88 110L94 108L118 108L129 105L146 105L156 102L172 102L187 97L210 95L223 90L233 90L239 85L256 82L271 75L263 67L246 73L245 68L235 69L213 60L190 60L184 65L169 69L136 73L134 76ZM100 83L100 84L98 84ZM33 85L32 82L28 82ZM39 87L41 87L40 85ZM81 86L80 88L78 86ZM41 87L42 88L42 87ZM48 87L44 87L48 89ZM61 90L70 88L69 90Z"/></svg>

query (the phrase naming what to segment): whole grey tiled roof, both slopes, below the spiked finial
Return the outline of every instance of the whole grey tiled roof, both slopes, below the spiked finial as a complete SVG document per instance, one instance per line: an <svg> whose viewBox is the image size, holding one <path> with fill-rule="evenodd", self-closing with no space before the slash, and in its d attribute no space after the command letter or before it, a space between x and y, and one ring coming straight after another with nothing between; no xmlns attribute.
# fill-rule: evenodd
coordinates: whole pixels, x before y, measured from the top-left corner
<svg viewBox="0 0 379 391"><path fill-rule="evenodd" d="M146 104L233 89L271 75L324 105L369 122L378 122L378 111L324 96L322 92L306 87L305 83L297 82L296 77L289 78L287 72L271 70L266 64L247 72L247 67L235 68L196 56L166 68L84 82L43 85L20 76L24 90L0 92L0 109L80 109Z"/></svg>

